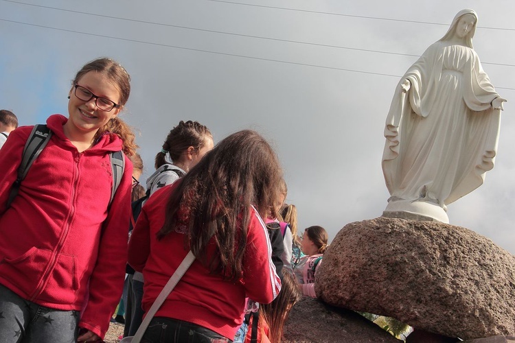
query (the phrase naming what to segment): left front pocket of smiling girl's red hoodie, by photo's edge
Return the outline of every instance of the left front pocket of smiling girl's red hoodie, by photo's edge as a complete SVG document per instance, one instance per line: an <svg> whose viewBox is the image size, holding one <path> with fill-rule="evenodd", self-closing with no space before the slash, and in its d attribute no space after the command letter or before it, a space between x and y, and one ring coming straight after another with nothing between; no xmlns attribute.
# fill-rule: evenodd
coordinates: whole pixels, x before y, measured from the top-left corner
<svg viewBox="0 0 515 343"><path fill-rule="evenodd" d="M33 246L18 257L4 257L0 262L0 274L30 296L40 283L51 255L52 251Z"/></svg>

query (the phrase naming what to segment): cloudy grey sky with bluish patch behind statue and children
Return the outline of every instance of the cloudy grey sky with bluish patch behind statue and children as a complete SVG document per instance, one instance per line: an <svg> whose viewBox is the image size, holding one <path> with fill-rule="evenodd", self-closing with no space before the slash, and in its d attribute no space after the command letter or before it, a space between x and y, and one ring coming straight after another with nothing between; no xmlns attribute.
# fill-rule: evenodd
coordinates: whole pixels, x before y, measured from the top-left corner
<svg viewBox="0 0 515 343"><path fill-rule="evenodd" d="M515 254L515 2L442 0L0 0L0 108L21 125L67 115L71 80L107 56L131 76L124 119L137 132L146 180L181 120L215 143L260 132L284 168L299 230L379 217L383 130L396 84L459 10L505 99L496 164L448 206L450 224Z"/></svg>

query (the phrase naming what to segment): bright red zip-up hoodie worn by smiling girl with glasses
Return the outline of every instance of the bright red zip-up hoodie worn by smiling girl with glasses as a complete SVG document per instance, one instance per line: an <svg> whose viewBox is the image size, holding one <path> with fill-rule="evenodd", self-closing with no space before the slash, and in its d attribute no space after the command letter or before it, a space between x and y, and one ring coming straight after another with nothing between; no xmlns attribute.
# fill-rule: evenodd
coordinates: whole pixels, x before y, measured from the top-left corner
<svg viewBox="0 0 515 343"><path fill-rule="evenodd" d="M132 164L108 209L115 134L79 153L65 137L67 118L52 115L52 139L6 207L32 127L0 150L0 283L22 298L61 310L83 309L80 327L104 337L124 283Z"/></svg>

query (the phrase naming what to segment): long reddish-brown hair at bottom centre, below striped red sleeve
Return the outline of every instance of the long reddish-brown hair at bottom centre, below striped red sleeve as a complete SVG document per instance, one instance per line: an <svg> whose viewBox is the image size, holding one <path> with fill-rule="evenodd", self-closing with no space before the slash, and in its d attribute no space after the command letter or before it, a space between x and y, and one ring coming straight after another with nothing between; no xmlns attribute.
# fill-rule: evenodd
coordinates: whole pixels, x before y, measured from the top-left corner
<svg viewBox="0 0 515 343"><path fill-rule="evenodd" d="M269 304L260 304L260 322L268 324L268 339L272 343L280 343L284 323L288 319L290 309L302 297L300 285L295 280L295 276L290 272L283 272L281 292ZM259 325L261 329L263 325ZM263 335L264 332L261 332Z"/></svg>

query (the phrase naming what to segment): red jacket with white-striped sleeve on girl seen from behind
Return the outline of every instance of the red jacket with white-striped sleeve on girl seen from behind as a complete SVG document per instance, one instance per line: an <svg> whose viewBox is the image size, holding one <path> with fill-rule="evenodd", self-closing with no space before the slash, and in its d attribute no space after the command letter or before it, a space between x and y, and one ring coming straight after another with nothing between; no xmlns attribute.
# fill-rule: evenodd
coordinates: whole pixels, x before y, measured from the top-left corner
<svg viewBox="0 0 515 343"><path fill-rule="evenodd" d="M143 271L142 307L145 311L150 309L187 254L183 233L173 232L161 240L156 238L165 220L165 206L170 193L179 183L152 194L130 236L128 262L135 270ZM270 303L281 289L281 281L271 261L266 226L255 210L251 213L243 263L242 279L233 283L218 274L209 274L209 269L194 261L156 316L192 322L233 340L242 323L245 297L259 303Z"/></svg>

